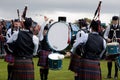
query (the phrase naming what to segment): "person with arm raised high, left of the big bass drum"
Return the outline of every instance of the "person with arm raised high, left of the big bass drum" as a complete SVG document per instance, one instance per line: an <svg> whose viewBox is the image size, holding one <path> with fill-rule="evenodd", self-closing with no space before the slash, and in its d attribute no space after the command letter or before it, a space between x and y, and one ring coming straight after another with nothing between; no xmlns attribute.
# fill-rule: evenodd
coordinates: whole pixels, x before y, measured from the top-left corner
<svg viewBox="0 0 120 80"><path fill-rule="evenodd" d="M43 29L43 31L40 30L41 32L43 32L43 34L38 34L40 37L39 39L40 39L40 47L41 47L40 50L38 51L38 56L39 56L38 66L40 66L41 80L48 79L48 74L49 74L48 55L52 52L52 50L50 49L47 43L47 31L49 29L49 25L52 19L48 21L49 23L47 23L47 21L48 21L48 18L45 17L46 25L41 25L41 29Z"/></svg>

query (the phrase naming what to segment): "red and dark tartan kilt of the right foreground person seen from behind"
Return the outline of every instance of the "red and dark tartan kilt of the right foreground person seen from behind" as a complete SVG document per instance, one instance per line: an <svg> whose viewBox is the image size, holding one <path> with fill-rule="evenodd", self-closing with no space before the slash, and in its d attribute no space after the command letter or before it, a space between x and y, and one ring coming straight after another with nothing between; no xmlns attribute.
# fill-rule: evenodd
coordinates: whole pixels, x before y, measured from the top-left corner
<svg viewBox="0 0 120 80"><path fill-rule="evenodd" d="M99 60L80 59L77 73L80 80L102 80Z"/></svg>

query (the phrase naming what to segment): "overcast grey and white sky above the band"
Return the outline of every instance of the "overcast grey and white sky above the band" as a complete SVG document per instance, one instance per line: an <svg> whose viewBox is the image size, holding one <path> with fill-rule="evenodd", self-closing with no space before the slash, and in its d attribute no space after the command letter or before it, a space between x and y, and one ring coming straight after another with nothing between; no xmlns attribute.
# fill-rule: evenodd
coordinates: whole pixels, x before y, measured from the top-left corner
<svg viewBox="0 0 120 80"><path fill-rule="evenodd" d="M0 0L0 18L17 18L17 9L22 14L28 5L27 16L46 15L57 19L66 16L68 21L79 18L93 18L99 0ZM120 14L120 0L102 0L101 21L108 23L112 16Z"/></svg>

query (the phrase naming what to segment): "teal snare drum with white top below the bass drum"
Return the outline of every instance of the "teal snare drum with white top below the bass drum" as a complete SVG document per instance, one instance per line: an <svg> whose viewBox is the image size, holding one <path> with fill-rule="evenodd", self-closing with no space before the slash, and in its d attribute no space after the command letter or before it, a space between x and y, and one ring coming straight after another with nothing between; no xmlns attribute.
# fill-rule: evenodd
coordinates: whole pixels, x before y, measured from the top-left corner
<svg viewBox="0 0 120 80"><path fill-rule="evenodd" d="M62 68L62 59L64 55L58 53L51 53L48 56L49 68L52 70L59 70Z"/></svg>

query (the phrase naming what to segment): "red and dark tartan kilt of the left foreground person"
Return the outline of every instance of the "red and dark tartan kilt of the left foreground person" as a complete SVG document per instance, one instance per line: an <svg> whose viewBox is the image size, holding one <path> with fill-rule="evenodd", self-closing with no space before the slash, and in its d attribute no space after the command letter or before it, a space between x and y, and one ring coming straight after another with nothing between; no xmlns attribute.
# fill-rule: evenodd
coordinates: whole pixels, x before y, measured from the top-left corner
<svg viewBox="0 0 120 80"><path fill-rule="evenodd" d="M34 80L32 59L15 59L12 80Z"/></svg>

